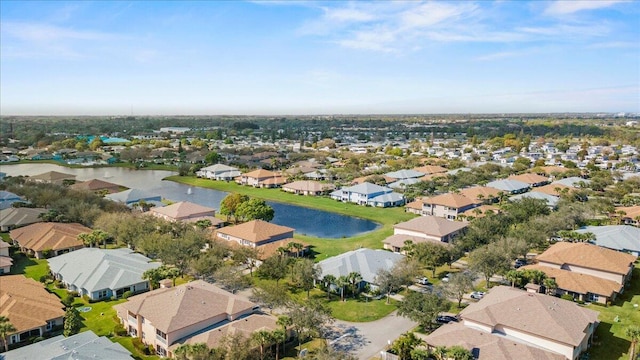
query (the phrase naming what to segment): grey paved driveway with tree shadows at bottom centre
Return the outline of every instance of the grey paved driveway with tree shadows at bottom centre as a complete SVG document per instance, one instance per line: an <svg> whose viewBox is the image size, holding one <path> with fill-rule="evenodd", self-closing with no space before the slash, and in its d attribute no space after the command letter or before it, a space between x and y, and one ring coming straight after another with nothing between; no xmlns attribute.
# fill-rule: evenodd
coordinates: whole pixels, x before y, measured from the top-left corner
<svg viewBox="0 0 640 360"><path fill-rule="evenodd" d="M402 333L418 326L396 311L386 317L364 323L336 320L333 331L328 336L335 349L348 351L361 360L369 360L380 354L387 344L393 342Z"/></svg>

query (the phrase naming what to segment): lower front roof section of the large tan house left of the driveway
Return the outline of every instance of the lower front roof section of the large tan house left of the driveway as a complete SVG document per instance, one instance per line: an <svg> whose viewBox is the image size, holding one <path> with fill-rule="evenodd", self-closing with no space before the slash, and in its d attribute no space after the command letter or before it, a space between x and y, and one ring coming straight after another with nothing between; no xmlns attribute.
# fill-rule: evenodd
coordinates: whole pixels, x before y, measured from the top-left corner
<svg viewBox="0 0 640 360"><path fill-rule="evenodd" d="M276 330L279 328L276 321L277 319L273 316L252 314L242 319L232 321L228 324L192 336L182 343L172 345L170 349L173 351L182 344L199 343L206 344L210 349L217 348L221 345L222 339L227 335L242 335L245 338L250 338L251 334L258 330Z"/></svg>

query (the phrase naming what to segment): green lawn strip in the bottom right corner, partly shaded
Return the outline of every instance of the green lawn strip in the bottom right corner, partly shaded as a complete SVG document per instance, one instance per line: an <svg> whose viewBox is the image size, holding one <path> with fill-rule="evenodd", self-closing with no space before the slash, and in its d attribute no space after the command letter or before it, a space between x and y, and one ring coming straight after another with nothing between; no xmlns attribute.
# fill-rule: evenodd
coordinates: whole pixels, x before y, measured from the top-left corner
<svg viewBox="0 0 640 360"><path fill-rule="evenodd" d="M638 264L636 263L636 266ZM638 305L638 307L634 307ZM631 342L624 335L632 324L640 324L640 268L633 270L631 286L625 290L612 306L589 305L589 309L600 312L600 325L596 329L593 346L589 350L591 360L629 359ZM618 321L615 321L617 317Z"/></svg>

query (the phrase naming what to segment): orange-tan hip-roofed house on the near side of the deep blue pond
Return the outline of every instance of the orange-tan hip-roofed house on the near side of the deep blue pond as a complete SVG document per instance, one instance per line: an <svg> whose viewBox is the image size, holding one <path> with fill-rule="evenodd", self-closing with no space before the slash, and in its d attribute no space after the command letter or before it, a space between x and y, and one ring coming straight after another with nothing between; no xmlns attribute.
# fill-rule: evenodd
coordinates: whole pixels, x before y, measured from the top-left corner
<svg viewBox="0 0 640 360"><path fill-rule="evenodd" d="M278 240L293 238L293 232L294 229L287 226L271 224L263 220L252 220L218 229L215 238L257 248Z"/></svg>

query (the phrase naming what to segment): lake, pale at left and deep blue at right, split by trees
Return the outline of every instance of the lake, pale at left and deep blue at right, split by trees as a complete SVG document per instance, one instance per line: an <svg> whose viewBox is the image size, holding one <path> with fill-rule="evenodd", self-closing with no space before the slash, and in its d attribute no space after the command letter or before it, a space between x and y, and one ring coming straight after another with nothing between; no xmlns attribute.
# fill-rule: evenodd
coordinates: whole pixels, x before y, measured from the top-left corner
<svg viewBox="0 0 640 360"><path fill-rule="evenodd" d="M163 181L162 179L165 177L177 174L164 170L133 170L118 167L66 168L54 164L16 164L1 165L0 171L7 173L8 176L33 176L47 171L58 171L76 175L79 181L100 179L128 188L156 193L174 202L190 201L216 210L220 209L220 202L227 196L227 193L223 191ZM372 231L380 226L373 221L352 216L272 201L267 203L275 211L272 223L294 228L299 234L339 239Z"/></svg>

